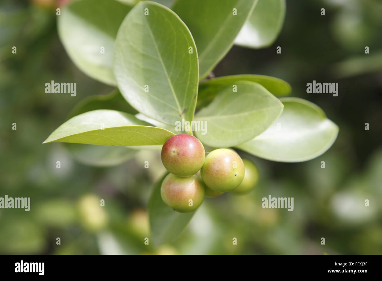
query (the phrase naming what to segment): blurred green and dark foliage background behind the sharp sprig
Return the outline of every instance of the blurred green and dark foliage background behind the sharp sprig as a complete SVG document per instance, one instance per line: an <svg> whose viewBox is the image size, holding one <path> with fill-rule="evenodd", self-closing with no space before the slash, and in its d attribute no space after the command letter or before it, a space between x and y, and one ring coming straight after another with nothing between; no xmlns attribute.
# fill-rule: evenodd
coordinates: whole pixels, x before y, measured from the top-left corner
<svg viewBox="0 0 382 281"><path fill-rule="evenodd" d="M63 49L55 9L65 2L0 2L0 197L31 197L29 212L0 209L0 253L382 254L382 2L287 0L285 24L272 46L230 50L215 76L281 78L291 84L291 96L320 106L340 133L329 151L308 162L240 152L259 167L254 192L206 198L183 234L160 247L143 243L150 237L151 189L165 172L160 151L92 167L66 145L41 144L79 101L113 90L84 75ZM51 80L76 82L77 96L45 94ZM338 82L338 96L307 94L313 80ZM268 195L294 197L294 211L261 208ZM94 207L100 199L105 207Z"/></svg>

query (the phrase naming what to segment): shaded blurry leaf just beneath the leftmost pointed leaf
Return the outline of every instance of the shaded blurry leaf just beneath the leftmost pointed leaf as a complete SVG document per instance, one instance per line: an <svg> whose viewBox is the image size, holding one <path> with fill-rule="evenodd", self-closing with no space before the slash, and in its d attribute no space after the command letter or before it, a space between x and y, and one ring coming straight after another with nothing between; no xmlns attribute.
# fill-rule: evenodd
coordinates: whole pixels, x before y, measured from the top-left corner
<svg viewBox="0 0 382 281"><path fill-rule="evenodd" d="M84 145L65 143L73 158L78 162L95 167L116 166L132 158L137 152L124 146Z"/></svg>

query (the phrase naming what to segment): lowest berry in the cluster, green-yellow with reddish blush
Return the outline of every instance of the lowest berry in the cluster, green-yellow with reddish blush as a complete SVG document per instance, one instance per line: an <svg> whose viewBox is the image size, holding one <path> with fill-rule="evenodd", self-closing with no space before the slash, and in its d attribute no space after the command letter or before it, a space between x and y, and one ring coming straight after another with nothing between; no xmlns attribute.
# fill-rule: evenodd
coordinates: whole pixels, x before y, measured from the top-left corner
<svg viewBox="0 0 382 281"><path fill-rule="evenodd" d="M160 187L163 202L179 213L195 211L204 200L204 187L195 175L177 177L168 174Z"/></svg>

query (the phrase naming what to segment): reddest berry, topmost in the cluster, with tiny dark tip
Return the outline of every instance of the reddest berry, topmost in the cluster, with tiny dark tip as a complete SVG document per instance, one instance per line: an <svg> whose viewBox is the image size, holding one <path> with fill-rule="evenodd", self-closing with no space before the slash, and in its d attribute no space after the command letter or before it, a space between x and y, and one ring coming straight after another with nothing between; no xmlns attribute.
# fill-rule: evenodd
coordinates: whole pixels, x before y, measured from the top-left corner
<svg viewBox="0 0 382 281"><path fill-rule="evenodd" d="M203 166L206 152L197 138L179 134L165 142L160 156L168 172L178 177L191 177Z"/></svg>

